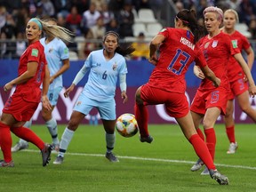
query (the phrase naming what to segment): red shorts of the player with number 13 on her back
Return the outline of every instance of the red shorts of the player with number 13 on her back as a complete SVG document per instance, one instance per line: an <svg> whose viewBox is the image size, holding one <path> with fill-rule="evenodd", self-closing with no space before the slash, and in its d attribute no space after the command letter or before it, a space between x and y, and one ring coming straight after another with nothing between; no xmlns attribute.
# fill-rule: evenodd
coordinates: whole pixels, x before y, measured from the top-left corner
<svg viewBox="0 0 256 192"><path fill-rule="evenodd" d="M144 84L140 90L140 98L144 105L164 104L166 113L174 118L186 116L189 112L187 97L182 93L166 92Z"/></svg>

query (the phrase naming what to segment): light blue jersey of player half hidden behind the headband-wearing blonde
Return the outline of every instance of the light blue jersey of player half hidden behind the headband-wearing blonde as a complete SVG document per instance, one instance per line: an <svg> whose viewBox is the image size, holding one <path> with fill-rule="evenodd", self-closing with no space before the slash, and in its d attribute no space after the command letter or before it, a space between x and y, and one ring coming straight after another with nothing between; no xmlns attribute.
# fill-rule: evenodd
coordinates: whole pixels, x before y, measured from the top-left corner
<svg viewBox="0 0 256 192"><path fill-rule="evenodd" d="M62 40L56 37L48 44L45 44L44 37L40 39L40 43L44 46L44 53L50 70L50 76L53 76L62 67L62 60L67 60L69 58L68 47ZM50 84L49 91L62 86L62 76L60 75L54 79L52 84Z"/></svg>

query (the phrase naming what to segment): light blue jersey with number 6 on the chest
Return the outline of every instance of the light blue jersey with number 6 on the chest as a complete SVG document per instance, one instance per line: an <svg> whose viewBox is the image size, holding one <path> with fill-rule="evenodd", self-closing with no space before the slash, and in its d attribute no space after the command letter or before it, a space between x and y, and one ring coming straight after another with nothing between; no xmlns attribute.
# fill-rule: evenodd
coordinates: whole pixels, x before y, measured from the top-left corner
<svg viewBox="0 0 256 192"><path fill-rule="evenodd" d="M124 56L116 52L111 60L106 60L103 49L91 52L84 61L84 67L91 68L91 71L83 93L92 100L112 100L118 76L127 74Z"/></svg>

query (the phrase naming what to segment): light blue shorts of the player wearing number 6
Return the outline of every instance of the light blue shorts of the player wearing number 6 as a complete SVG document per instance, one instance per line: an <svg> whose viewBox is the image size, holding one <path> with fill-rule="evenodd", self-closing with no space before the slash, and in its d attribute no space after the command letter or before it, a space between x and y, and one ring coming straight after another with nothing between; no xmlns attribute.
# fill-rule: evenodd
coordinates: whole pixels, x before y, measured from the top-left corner
<svg viewBox="0 0 256 192"><path fill-rule="evenodd" d="M92 108L97 108L100 113L100 118L104 120L116 120L116 100L92 100L84 95L83 92L76 100L76 105L73 110L83 113L85 116L90 113Z"/></svg>

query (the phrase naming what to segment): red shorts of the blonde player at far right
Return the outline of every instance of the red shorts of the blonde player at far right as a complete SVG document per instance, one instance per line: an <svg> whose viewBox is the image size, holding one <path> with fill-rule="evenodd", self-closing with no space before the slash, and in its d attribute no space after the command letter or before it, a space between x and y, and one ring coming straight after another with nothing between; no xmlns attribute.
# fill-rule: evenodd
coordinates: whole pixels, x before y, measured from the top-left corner
<svg viewBox="0 0 256 192"><path fill-rule="evenodd" d="M248 91L248 84L244 82L244 78L236 79L234 82L230 82L231 92L228 94L228 100L234 100L237 95Z"/></svg>

